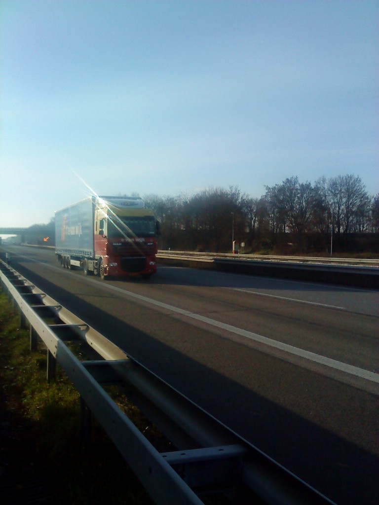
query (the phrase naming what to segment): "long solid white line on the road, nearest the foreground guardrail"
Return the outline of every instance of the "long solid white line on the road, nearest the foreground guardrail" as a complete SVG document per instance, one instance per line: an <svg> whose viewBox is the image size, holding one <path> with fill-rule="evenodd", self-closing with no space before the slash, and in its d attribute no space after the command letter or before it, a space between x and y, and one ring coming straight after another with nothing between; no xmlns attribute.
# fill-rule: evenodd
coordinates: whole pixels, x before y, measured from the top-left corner
<svg viewBox="0 0 379 505"><path fill-rule="evenodd" d="M97 282L92 279L87 279L90 282ZM126 291L125 289L121 289L116 286L111 286L109 284L103 284L109 289L113 289L114 291L118 291L132 298L136 298L141 301L148 302L151 305L155 305L157 307L161 307L162 309L166 309L170 312L174 312L176 314L181 314L182 316L186 316L191 319L196 319L197 321L202 321L203 323L207 323L216 328L221 328L223 330L227 330L231 333L235 333L236 335L241 335L246 338L250 338L251 340L255 340L256 342L261 342L270 347L274 347L276 349L280 349L300 358L305 358L307 360L313 361L315 363L319 363L321 365L325 365L330 368L334 368L336 370L340 370L342 372L346 372L350 375L355 375L357 377L361 377L362 379L366 379L372 382L376 382L379 384L379 374L375 372L371 372L370 370L364 370L363 368L354 367L353 365L348 365L347 363L343 363L341 361L333 360L331 358L327 358L326 356L320 356L315 354L315 352L310 352L304 349L300 349L299 347L295 347L290 344L286 344L283 342L279 342L277 340L273 340L272 338L264 337L262 335L258 335L258 333L253 333L251 331L243 330L241 328L237 328L235 326L231 326L226 323L221 323L220 321L216 321L214 319L210 319L205 316L201 316L200 314L195 314L193 312L186 311L184 309L180 309L179 307L174 307L173 305L168 305L163 303L162 301L154 300L153 298L148 298L147 296L143 296L141 294L136 294L131 291Z"/></svg>

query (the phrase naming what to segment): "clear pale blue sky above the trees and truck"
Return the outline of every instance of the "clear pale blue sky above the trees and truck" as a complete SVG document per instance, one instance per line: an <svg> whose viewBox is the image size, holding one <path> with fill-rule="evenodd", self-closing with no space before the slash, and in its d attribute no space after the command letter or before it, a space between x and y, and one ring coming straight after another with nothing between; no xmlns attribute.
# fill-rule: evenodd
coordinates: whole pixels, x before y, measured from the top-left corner
<svg viewBox="0 0 379 505"><path fill-rule="evenodd" d="M0 226L298 176L379 192L377 1L3 0Z"/></svg>

